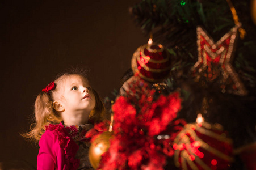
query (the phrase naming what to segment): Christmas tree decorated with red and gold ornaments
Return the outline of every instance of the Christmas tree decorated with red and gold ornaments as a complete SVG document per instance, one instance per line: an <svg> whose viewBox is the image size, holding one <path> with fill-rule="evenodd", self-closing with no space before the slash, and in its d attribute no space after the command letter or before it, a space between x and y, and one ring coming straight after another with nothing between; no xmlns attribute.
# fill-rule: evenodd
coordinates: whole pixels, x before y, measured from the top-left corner
<svg viewBox="0 0 256 170"><path fill-rule="evenodd" d="M135 78L114 101L114 133L96 167L255 169L254 9L248 0L133 6L154 43L133 55Z"/></svg>

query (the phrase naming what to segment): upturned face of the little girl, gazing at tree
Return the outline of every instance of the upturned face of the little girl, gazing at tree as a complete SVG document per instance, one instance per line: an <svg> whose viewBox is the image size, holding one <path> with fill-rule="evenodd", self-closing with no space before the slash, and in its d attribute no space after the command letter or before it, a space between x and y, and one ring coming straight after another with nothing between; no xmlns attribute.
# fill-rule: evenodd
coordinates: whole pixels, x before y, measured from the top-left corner
<svg viewBox="0 0 256 170"><path fill-rule="evenodd" d="M69 114L90 113L95 107L95 96L88 80L77 74L66 75L62 80L62 103Z"/></svg>

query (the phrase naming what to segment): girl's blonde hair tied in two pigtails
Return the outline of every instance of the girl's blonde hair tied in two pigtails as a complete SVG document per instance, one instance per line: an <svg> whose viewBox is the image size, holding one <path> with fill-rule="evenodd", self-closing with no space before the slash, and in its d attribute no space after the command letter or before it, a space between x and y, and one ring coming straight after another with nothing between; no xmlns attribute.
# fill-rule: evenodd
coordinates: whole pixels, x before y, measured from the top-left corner
<svg viewBox="0 0 256 170"><path fill-rule="evenodd" d="M59 79L63 78L66 75L77 74L86 78L84 72L69 72L62 74L56 78L56 82ZM87 79L87 78L86 78ZM57 85L56 85L57 87ZM40 92L40 94L36 97L35 101L35 123L31 124L30 130L28 133L21 134L23 137L32 140L39 141L41 135L45 132L45 126L49 124L59 124L62 121L62 118L57 114L57 112L53 108L53 93L57 92L58 89L49 91L49 94L46 92ZM89 115L89 121L91 123L98 123L104 120L105 107L100 99L98 92L93 89L93 94L95 95L95 107L93 111L91 111Z"/></svg>

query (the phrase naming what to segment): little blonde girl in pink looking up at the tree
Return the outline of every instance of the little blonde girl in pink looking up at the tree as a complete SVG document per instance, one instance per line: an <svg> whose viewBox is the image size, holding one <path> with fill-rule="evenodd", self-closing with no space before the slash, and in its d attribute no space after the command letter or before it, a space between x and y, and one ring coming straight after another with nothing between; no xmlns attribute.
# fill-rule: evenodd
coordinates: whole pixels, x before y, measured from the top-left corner
<svg viewBox="0 0 256 170"><path fill-rule="evenodd" d="M37 96L36 124L23 135L40 140L37 169L93 169L85 133L103 117L104 105L83 73L58 76Z"/></svg>

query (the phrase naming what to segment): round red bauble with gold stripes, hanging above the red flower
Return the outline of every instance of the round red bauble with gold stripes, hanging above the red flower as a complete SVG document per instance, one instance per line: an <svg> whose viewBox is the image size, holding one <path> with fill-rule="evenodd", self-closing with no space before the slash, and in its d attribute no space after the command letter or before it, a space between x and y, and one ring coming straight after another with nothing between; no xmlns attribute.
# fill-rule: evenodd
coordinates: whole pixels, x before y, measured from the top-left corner
<svg viewBox="0 0 256 170"><path fill-rule="evenodd" d="M171 70L170 56L161 44L153 43L140 46L132 56L133 73L149 82L161 82Z"/></svg>

